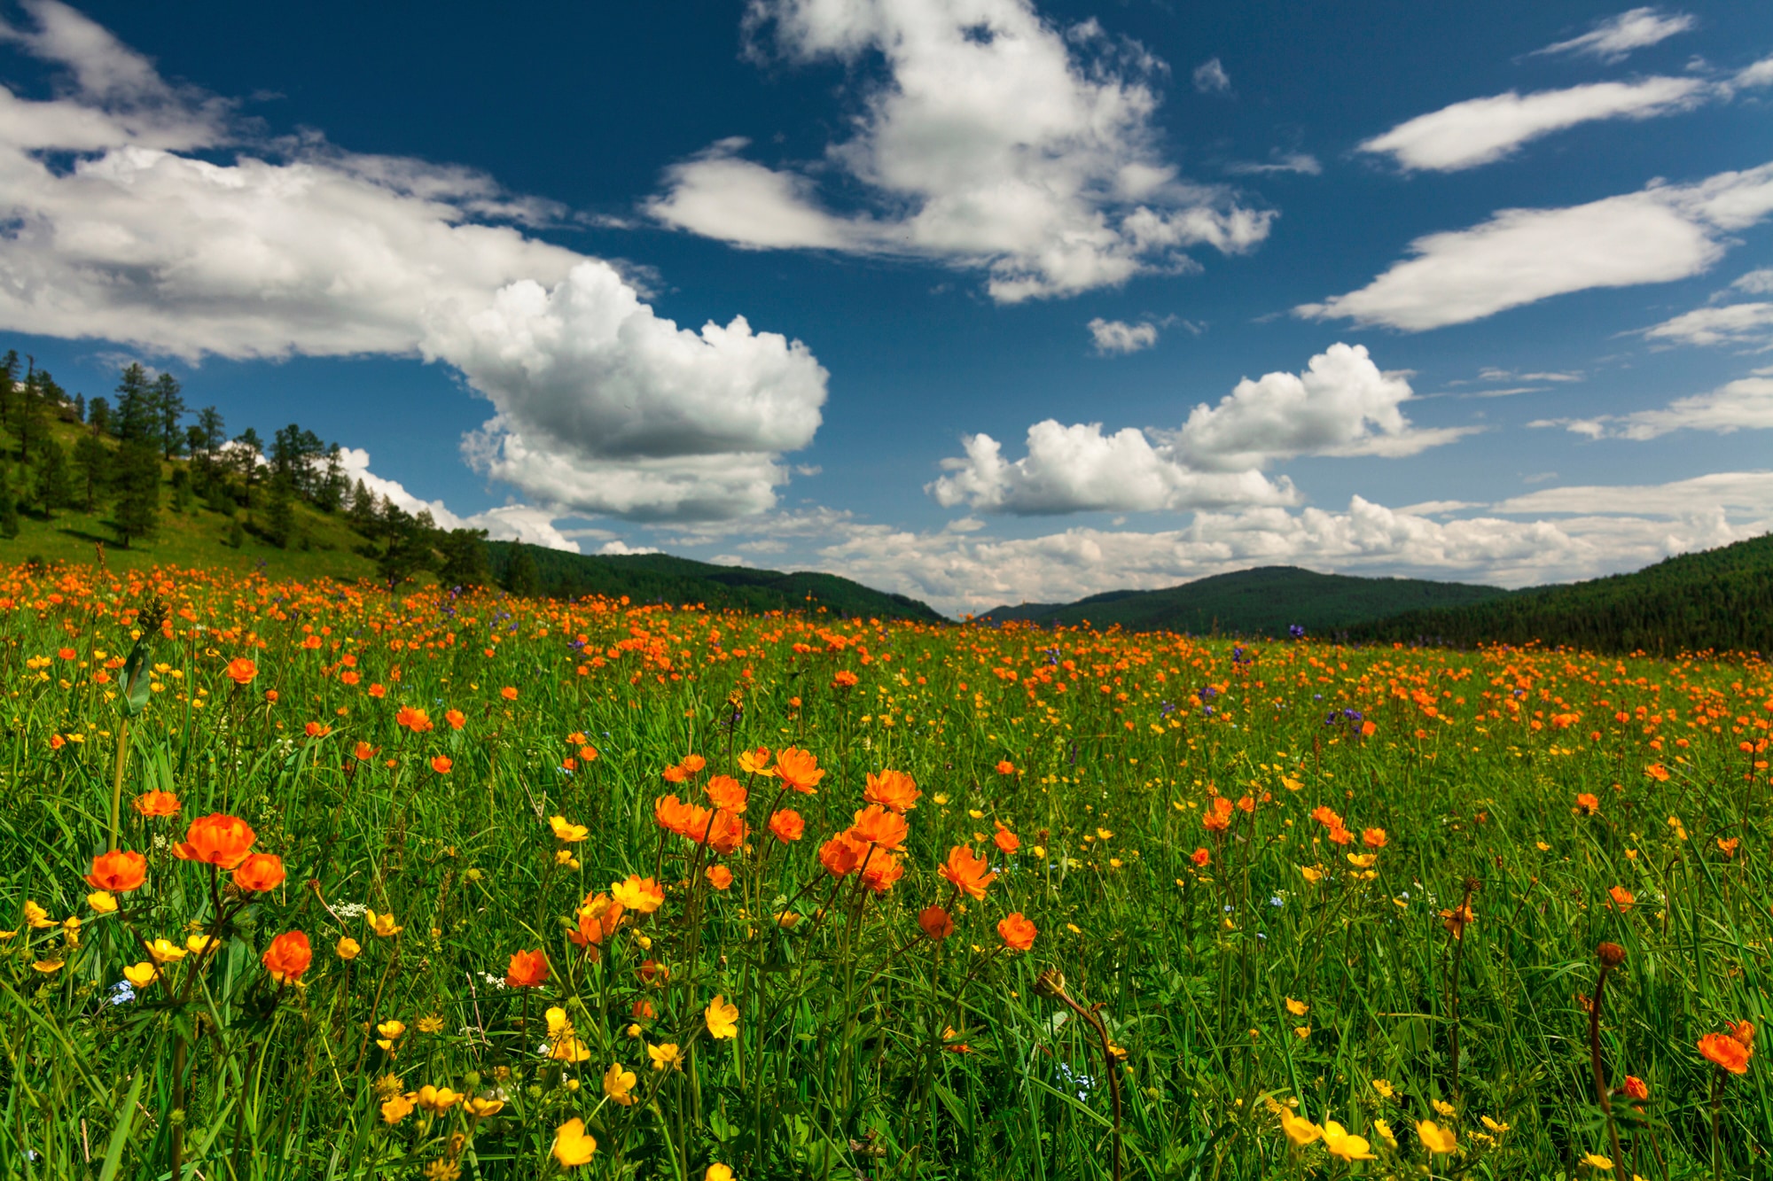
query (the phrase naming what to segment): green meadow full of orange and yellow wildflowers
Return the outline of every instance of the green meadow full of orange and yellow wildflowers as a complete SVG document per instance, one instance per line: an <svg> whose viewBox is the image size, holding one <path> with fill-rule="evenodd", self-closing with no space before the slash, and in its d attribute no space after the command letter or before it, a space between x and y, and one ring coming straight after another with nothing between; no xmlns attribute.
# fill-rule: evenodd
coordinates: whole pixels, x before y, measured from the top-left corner
<svg viewBox="0 0 1773 1181"><path fill-rule="evenodd" d="M4 1177L1764 1174L1773 676L0 571Z"/></svg>

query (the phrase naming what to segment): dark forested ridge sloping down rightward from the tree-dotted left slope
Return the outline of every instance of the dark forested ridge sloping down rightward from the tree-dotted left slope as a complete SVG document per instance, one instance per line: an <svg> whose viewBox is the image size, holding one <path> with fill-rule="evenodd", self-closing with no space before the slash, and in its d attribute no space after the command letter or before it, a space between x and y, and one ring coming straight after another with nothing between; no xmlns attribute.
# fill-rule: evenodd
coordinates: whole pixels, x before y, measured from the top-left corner
<svg viewBox="0 0 1773 1181"><path fill-rule="evenodd" d="M500 585L557 598L626 594L635 603L672 603L676 606L700 603L709 610L816 612L824 608L833 615L941 619L931 606L913 598L872 590L837 575L715 566L667 553L566 553L509 541L488 543L488 559L493 578Z"/></svg>

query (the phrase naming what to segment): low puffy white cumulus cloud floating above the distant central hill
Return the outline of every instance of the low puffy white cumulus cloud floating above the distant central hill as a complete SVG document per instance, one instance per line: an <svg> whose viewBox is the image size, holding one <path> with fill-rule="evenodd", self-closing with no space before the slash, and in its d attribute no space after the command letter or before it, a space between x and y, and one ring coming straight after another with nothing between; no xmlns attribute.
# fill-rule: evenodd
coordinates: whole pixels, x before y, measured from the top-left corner
<svg viewBox="0 0 1773 1181"><path fill-rule="evenodd" d="M1411 456L1468 433L1415 427L1399 410L1410 399L1408 379L1381 372L1365 346L1333 344L1301 374L1245 378L1175 431L1048 418L1028 427L1021 459L989 434L966 436L927 491L945 507L1012 514L1287 505L1293 482L1262 475L1278 459Z"/></svg>

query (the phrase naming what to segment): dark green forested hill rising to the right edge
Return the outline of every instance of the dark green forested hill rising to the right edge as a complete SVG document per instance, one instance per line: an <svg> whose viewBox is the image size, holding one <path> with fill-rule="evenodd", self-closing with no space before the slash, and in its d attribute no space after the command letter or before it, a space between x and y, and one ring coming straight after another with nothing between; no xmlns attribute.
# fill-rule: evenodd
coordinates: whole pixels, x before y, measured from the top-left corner
<svg viewBox="0 0 1773 1181"><path fill-rule="evenodd" d="M1773 653L1773 534L1635 575L1534 587L1355 626L1351 637L1470 645L1567 644L1605 653Z"/></svg>

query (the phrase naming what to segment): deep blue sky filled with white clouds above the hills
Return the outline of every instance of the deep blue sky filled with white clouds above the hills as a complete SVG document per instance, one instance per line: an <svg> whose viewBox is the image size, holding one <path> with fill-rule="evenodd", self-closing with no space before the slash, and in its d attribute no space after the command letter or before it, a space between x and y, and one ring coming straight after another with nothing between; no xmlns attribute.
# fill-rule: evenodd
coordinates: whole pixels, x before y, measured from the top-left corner
<svg viewBox="0 0 1773 1181"><path fill-rule="evenodd" d="M1773 7L0 5L0 342L952 615L1773 528Z"/></svg>

